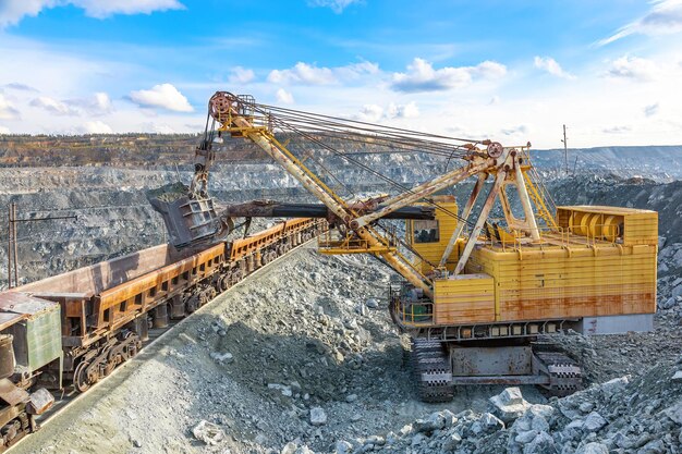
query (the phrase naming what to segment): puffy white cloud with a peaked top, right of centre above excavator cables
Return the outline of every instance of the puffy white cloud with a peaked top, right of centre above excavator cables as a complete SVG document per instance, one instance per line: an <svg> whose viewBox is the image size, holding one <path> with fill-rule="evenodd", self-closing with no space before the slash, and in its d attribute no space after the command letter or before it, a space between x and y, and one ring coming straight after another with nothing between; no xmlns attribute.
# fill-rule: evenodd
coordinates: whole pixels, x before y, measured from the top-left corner
<svg viewBox="0 0 682 454"><path fill-rule="evenodd" d="M476 79L495 79L507 74L507 66L484 61L475 66L446 66L435 70L431 63L415 58L406 73L394 73L391 87L398 91L440 91L471 85Z"/></svg>

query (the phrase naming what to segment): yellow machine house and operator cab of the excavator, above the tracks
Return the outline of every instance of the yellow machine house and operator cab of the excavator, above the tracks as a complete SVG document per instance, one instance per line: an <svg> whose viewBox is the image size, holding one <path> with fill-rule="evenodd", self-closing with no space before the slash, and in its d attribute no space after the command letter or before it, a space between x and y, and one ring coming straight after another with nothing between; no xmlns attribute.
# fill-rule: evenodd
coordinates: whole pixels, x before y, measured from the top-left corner
<svg viewBox="0 0 682 454"><path fill-rule="evenodd" d="M451 200L437 203L456 210ZM416 315L415 305L403 308L401 321L451 327L656 311L655 211L558 207L557 223L558 230L543 232L534 242L479 238L464 273L435 278L433 303L417 306ZM426 260L438 262L454 224L447 213L436 221L409 221L409 241ZM462 244L460 240L448 259L449 269ZM425 273L434 271L427 261L415 265Z"/></svg>

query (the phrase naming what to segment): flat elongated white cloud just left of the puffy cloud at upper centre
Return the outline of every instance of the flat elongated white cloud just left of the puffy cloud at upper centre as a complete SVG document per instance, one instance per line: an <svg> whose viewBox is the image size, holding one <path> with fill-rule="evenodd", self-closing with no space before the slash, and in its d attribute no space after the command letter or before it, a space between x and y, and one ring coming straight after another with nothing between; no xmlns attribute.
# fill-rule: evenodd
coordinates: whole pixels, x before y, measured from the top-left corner
<svg viewBox="0 0 682 454"><path fill-rule="evenodd" d="M319 68L315 63L296 63L288 70L272 70L268 82L273 84L331 85L339 82L354 81L366 74L377 74L376 63L360 62L345 66Z"/></svg>

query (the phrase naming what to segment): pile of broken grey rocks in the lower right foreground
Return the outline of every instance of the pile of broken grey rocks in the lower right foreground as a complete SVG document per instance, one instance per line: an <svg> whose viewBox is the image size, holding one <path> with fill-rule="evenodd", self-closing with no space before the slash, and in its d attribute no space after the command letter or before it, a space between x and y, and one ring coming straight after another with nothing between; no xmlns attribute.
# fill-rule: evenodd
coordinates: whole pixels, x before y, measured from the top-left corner
<svg viewBox="0 0 682 454"><path fill-rule="evenodd" d="M436 412L385 437L337 442L343 453L665 454L682 452L682 357L548 405L517 388L489 400L488 412Z"/></svg>

